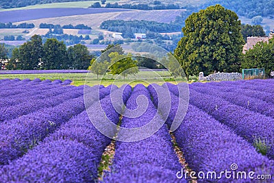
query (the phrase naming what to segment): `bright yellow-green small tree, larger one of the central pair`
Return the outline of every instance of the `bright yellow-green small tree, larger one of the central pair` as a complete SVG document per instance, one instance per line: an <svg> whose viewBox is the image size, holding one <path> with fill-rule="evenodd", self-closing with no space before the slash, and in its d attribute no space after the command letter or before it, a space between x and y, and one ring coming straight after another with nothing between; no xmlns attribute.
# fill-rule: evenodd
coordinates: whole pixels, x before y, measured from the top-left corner
<svg viewBox="0 0 274 183"><path fill-rule="evenodd" d="M138 73L138 61L132 59L132 54L120 55L118 52L110 53L111 60L110 73L112 75L123 75L124 79L127 75Z"/></svg>

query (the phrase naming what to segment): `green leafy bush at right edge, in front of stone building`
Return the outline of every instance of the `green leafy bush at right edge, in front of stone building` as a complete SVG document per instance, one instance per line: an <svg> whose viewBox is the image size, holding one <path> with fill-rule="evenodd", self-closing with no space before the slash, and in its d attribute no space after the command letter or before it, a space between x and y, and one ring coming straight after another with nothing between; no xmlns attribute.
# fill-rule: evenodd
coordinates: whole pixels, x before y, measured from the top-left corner
<svg viewBox="0 0 274 183"><path fill-rule="evenodd" d="M264 68L266 75L274 69L274 40L258 42L243 56L242 69Z"/></svg>

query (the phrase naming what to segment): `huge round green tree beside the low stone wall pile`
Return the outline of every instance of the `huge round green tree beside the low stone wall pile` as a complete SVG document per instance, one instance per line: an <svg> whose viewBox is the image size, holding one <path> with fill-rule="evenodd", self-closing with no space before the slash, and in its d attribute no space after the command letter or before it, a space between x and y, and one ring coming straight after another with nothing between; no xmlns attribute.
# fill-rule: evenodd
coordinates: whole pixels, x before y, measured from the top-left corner
<svg viewBox="0 0 274 183"><path fill-rule="evenodd" d="M182 28L175 56L187 76L214 71L239 71L244 40L235 12L214 5L191 14Z"/></svg>

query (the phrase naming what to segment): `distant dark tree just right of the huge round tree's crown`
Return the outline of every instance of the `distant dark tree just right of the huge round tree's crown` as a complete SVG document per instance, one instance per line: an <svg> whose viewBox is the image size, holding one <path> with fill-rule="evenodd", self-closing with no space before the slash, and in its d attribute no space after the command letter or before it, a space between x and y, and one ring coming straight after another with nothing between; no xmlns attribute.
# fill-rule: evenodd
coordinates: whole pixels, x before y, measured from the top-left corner
<svg viewBox="0 0 274 183"><path fill-rule="evenodd" d="M247 37L251 36L266 36L264 32L264 28L261 25L241 25L240 32L242 33L242 37L247 42Z"/></svg>

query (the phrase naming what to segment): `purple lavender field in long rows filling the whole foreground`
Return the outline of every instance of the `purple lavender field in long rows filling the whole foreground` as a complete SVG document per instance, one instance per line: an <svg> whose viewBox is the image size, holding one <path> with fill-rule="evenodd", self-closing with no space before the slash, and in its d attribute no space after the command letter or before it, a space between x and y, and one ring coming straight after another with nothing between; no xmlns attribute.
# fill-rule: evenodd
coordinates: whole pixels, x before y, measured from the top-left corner
<svg viewBox="0 0 274 183"><path fill-rule="evenodd" d="M0 80L0 182L273 182L274 80L70 84ZM187 95L186 88L188 106L179 95ZM142 114L130 117L134 112ZM119 127L105 125L138 128L153 120L164 125L142 141L115 141ZM101 174L110 145L112 158ZM194 180L188 173L225 170L254 172L254 179Z"/></svg>

